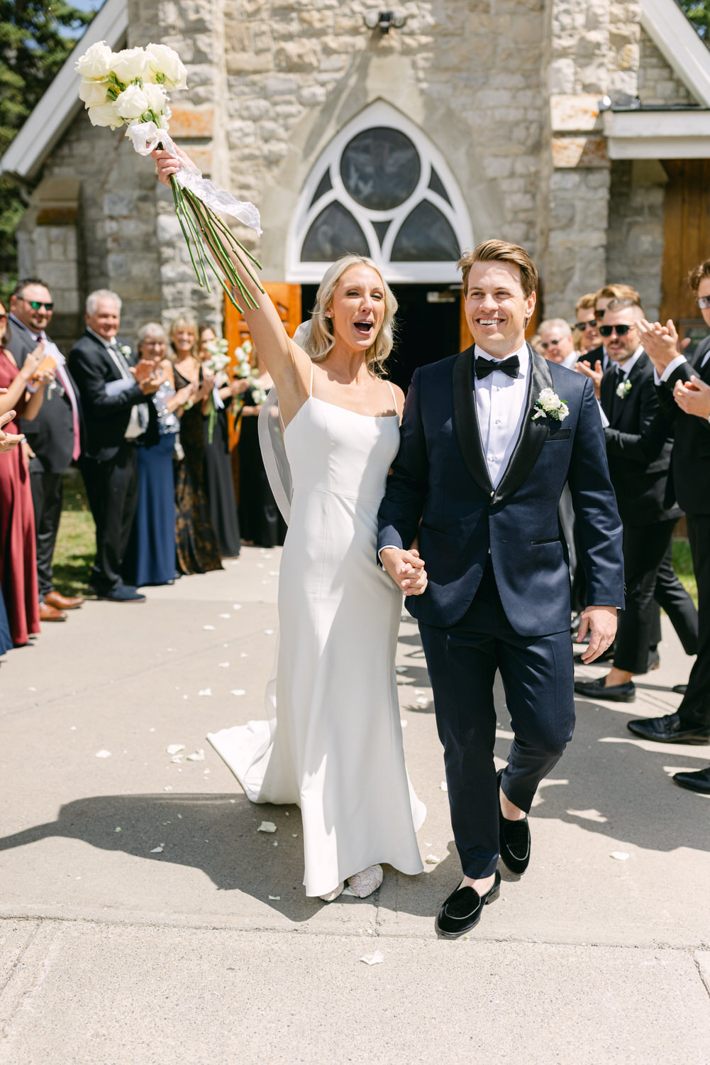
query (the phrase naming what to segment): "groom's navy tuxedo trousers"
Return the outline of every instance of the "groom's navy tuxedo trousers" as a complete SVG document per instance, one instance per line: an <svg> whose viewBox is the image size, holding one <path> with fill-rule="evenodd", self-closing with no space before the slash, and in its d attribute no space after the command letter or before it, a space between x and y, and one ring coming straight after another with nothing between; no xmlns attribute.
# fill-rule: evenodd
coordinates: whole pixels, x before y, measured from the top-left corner
<svg viewBox="0 0 710 1065"><path fill-rule="evenodd" d="M569 633L519 636L496 587L489 557L473 603L448 628L419 622L444 747L451 826L465 876L498 863L498 791L493 750L493 682L500 670L515 739L502 790L529 812L535 789L560 759L575 724Z"/></svg>

